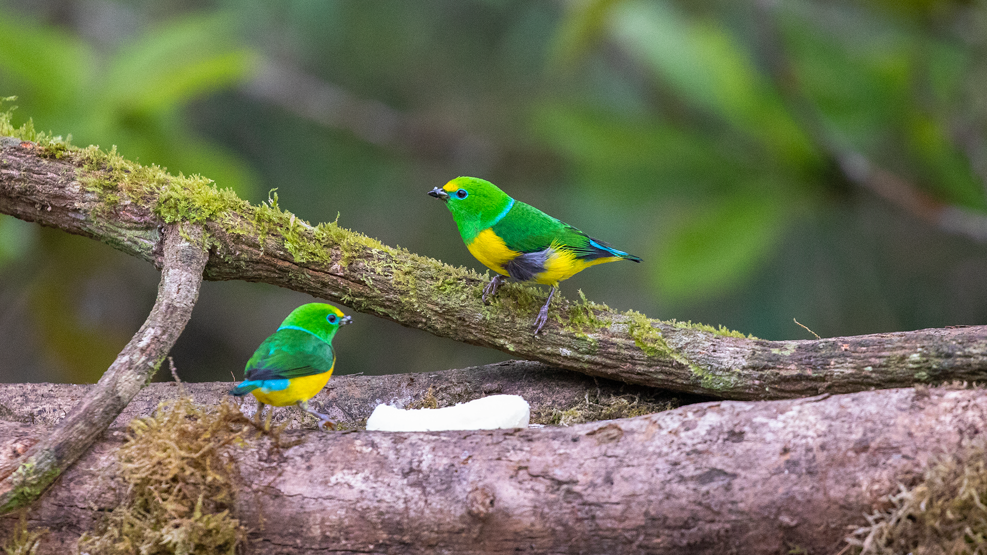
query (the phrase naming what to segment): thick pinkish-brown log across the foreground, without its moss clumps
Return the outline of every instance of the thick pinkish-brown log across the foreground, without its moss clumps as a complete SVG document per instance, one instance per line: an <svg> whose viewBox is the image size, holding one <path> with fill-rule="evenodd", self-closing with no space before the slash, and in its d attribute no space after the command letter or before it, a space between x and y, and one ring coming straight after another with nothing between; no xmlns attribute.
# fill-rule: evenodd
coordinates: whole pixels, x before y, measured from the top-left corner
<svg viewBox="0 0 987 555"><path fill-rule="evenodd" d="M0 428L0 457L44 434ZM239 516L248 553L829 554L931 456L985 430L983 390L920 387L569 428L293 431L305 442L240 451ZM70 552L117 503L122 438L112 429L32 507L52 529L39 554Z"/></svg>

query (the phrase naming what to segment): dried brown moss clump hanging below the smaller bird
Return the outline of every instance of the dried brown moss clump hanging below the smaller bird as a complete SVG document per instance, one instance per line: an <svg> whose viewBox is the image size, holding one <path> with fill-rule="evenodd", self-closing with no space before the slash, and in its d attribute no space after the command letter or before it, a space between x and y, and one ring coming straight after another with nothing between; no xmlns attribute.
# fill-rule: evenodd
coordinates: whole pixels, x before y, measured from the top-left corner
<svg viewBox="0 0 987 555"><path fill-rule="evenodd" d="M206 412L189 397L135 419L118 453L125 499L96 535L80 538L79 552L234 555L245 529L232 514L233 450L252 430L236 406Z"/></svg>

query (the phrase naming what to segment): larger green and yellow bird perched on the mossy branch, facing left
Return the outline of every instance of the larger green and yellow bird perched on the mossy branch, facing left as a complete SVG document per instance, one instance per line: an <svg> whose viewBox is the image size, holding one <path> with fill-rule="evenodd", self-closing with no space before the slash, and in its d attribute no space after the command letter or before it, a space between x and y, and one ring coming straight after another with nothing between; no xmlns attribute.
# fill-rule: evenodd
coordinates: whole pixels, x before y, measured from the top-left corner
<svg viewBox="0 0 987 555"><path fill-rule="evenodd" d="M538 208L515 200L489 181L459 177L428 192L452 212L466 248L496 276L484 287L483 300L507 277L552 285L535 319L535 333L549 317L559 281L616 260L641 259L618 251Z"/></svg>

